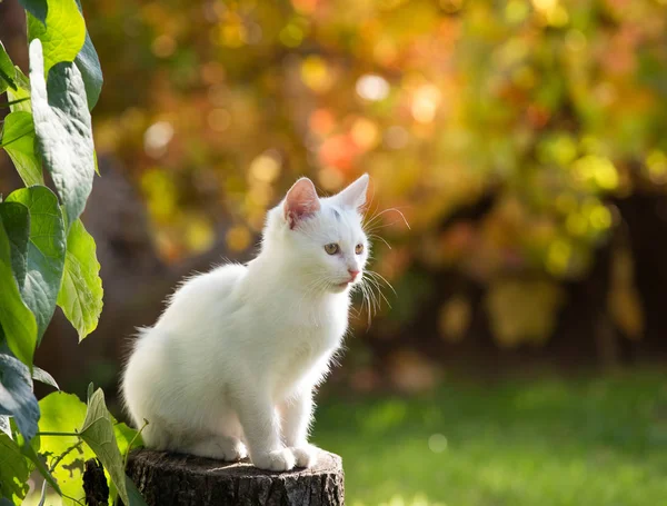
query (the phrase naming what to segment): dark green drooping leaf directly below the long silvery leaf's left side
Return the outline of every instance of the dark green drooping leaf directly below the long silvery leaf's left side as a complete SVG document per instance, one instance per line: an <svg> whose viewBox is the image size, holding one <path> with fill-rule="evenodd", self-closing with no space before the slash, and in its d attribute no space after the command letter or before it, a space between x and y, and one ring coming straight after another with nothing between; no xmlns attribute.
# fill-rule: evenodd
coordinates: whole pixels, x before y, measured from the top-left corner
<svg viewBox="0 0 667 506"><path fill-rule="evenodd" d="M28 270L21 295L37 318L39 343L56 310L64 268L62 214L58 198L43 186L16 190L6 201L21 202L30 211Z"/></svg>

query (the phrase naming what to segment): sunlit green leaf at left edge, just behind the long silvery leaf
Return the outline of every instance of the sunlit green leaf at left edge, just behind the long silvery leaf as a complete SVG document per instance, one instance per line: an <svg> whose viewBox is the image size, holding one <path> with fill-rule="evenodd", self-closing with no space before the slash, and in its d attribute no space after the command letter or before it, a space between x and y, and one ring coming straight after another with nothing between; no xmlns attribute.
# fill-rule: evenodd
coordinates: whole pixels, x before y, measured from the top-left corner
<svg viewBox="0 0 667 506"><path fill-rule="evenodd" d="M36 149L34 126L30 112L13 111L7 115L2 142L23 183L43 185L44 178L39 152Z"/></svg>

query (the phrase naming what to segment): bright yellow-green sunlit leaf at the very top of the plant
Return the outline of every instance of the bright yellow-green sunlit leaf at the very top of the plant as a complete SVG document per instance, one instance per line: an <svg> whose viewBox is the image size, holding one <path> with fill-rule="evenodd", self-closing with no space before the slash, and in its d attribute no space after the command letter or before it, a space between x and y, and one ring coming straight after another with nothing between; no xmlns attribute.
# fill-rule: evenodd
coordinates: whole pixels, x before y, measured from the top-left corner
<svg viewBox="0 0 667 506"><path fill-rule="evenodd" d="M43 48L43 76L61 61L74 61L86 40L86 23L77 2L49 0L43 20L29 12L28 40L34 39L41 40Z"/></svg>

